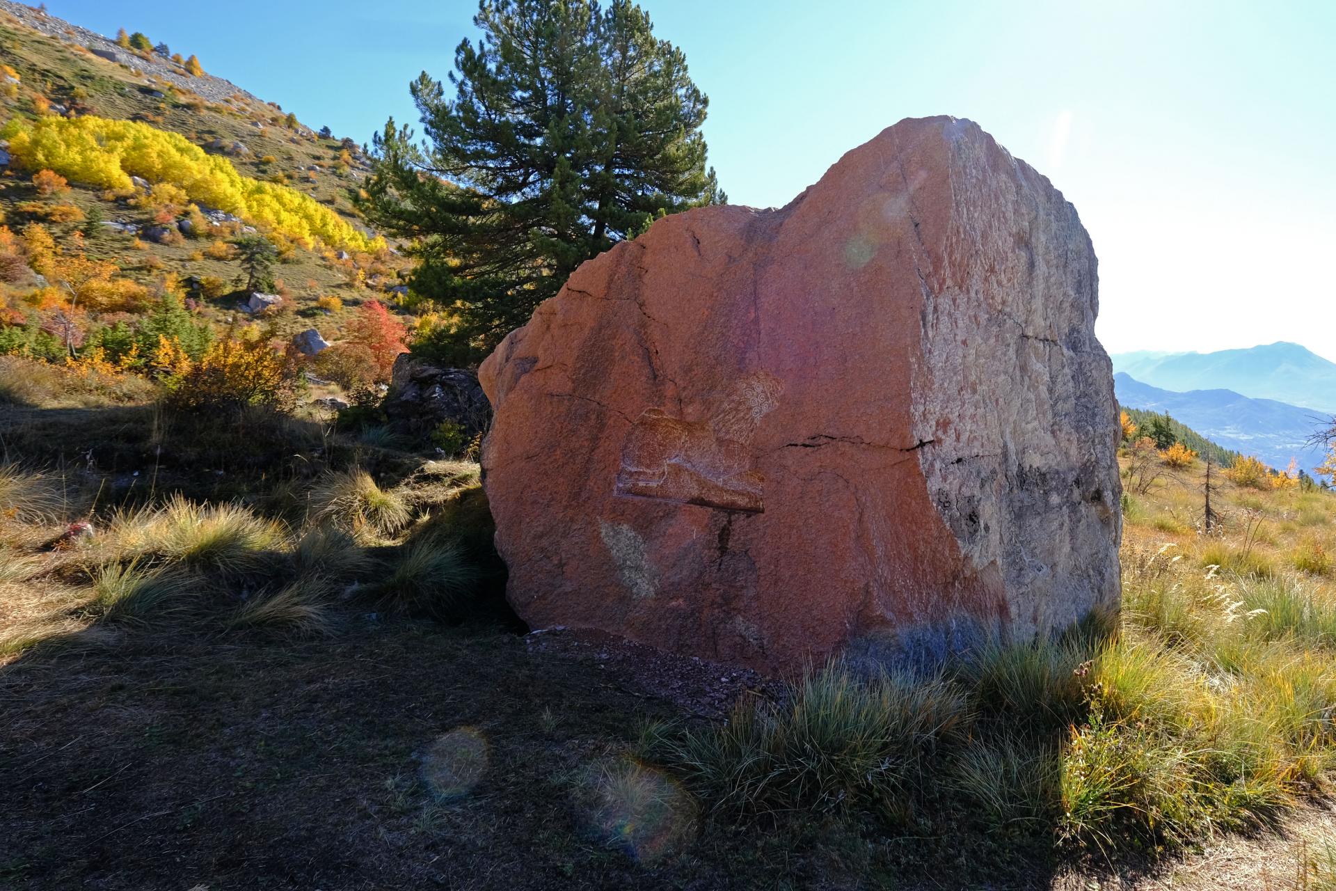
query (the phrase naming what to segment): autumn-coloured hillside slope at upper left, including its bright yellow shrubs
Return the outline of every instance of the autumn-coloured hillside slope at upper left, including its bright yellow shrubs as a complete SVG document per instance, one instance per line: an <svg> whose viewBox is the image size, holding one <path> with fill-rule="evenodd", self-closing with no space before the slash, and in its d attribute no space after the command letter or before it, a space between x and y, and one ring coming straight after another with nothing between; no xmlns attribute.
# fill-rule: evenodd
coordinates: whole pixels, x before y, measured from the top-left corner
<svg viewBox="0 0 1336 891"><path fill-rule="evenodd" d="M0 353L81 357L103 329L142 325L164 294L218 335L263 322L275 346L310 326L337 341L371 299L417 322L398 287L405 263L353 204L367 171L355 143L155 53L104 59L94 51L108 41L15 11L0 7L11 162L0 176ZM277 247L283 298L262 319L239 311L235 244L257 230ZM88 263L103 264L95 283L114 298L75 294Z"/></svg>

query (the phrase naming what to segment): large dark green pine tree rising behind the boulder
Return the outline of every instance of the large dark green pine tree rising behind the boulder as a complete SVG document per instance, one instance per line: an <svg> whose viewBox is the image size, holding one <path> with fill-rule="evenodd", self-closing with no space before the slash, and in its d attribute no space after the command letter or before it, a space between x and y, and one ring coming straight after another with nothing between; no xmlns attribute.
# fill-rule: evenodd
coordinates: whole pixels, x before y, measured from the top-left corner
<svg viewBox="0 0 1336 891"><path fill-rule="evenodd" d="M409 90L430 147L390 119L362 207L411 239L413 289L454 307L474 357L584 260L664 214L723 202L700 132L708 100L632 0L482 0L446 99Z"/></svg>

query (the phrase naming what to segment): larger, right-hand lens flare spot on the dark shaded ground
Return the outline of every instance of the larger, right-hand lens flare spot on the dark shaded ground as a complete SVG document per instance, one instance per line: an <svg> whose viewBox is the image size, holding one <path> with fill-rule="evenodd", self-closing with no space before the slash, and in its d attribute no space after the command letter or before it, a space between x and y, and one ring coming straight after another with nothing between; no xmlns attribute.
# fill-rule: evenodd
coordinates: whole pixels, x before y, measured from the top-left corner
<svg viewBox="0 0 1336 891"><path fill-rule="evenodd" d="M632 760L601 764L587 783L589 830L608 846L647 862L685 843L696 804L663 771Z"/></svg>

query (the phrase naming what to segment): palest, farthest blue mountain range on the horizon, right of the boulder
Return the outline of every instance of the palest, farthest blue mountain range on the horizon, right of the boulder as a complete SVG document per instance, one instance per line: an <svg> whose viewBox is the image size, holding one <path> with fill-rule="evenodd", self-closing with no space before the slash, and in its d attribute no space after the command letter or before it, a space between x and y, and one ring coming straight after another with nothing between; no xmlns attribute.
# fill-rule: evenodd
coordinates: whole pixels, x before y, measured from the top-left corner
<svg viewBox="0 0 1336 891"><path fill-rule="evenodd" d="M1216 353L1120 353L1113 370L1165 390L1188 393L1224 387L1255 399L1276 399L1336 414L1336 362L1299 343L1279 341Z"/></svg>

